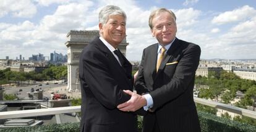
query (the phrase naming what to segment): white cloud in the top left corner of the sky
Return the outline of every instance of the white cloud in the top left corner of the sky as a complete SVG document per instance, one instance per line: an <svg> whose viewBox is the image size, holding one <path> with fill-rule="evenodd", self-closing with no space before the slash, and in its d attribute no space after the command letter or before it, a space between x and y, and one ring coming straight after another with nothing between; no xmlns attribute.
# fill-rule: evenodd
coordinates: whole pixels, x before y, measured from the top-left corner
<svg viewBox="0 0 256 132"><path fill-rule="evenodd" d="M0 17L12 14L13 17L30 18L36 14L36 6L30 0L1 0Z"/></svg>

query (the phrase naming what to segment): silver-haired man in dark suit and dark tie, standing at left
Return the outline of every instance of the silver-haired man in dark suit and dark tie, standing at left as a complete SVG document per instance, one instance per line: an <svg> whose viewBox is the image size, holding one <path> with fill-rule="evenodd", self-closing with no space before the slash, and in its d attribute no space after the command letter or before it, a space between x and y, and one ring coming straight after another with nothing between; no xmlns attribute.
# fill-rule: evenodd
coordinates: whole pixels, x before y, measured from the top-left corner
<svg viewBox="0 0 256 132"><path fill-rule="evenodd" d="M103 7L98 26L100 37L93 39L80 56L80 131L137 131L136 115L117 109L130 99L123 90L133 89L132 65L117 49L126 37L126 14L117 6Z"/></svg>

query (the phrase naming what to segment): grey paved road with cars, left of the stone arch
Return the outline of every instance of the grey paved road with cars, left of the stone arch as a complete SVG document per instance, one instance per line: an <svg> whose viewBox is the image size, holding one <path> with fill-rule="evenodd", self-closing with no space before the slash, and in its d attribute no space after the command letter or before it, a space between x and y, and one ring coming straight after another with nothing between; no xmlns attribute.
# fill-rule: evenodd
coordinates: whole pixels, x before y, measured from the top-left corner
<svg viewBox="0 0 256 132"><path fill-rule="evenodd" d="M37 85L29 85L29 86L15 86L15 87L9 87L9 88L4 88L4 91L6 94L16 94L19 99L24 99L25 97L28 97L28 92L30 91L30 89L42 89L42 90L48 90L51 88L56 88L59 86L65 86L67 85L66 83L62 83L61 85L59 84L54 84L54 83L49 83L49 85L46 85L46 83L39 83ZM20 89L22 89L22 91L20 91ZM49 98L49 94L44 93L43 97L48 97Z"/></svg>

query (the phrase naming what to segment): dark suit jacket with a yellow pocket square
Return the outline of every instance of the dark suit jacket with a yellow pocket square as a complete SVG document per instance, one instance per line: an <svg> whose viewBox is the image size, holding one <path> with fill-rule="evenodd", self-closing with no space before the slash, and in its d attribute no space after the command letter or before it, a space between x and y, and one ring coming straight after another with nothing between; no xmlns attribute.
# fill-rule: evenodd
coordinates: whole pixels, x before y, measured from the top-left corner
<svg viewBox="0 0 256 132"><path fill-rule="evenodd" d="M143 131L152 131L156 120L161 132L200 131L193 99L200 47L176 38L156 73L157 49L158 44L144 49L135 83L137 93L153 98L155 112L144 116Z"/></svg>

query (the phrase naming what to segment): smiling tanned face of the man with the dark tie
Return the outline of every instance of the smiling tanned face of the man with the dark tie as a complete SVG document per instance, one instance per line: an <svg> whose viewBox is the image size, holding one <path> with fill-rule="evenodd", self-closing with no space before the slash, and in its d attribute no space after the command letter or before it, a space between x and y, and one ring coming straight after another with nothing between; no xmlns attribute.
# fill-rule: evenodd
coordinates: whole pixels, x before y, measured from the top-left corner
<svg viewBox="0 0 256 132"><path fill-rule="evenodd" d="M126 36L126 20L122 15L110 15L104 25L99 23L100 35L114 48L122 42Z"/></svg>

